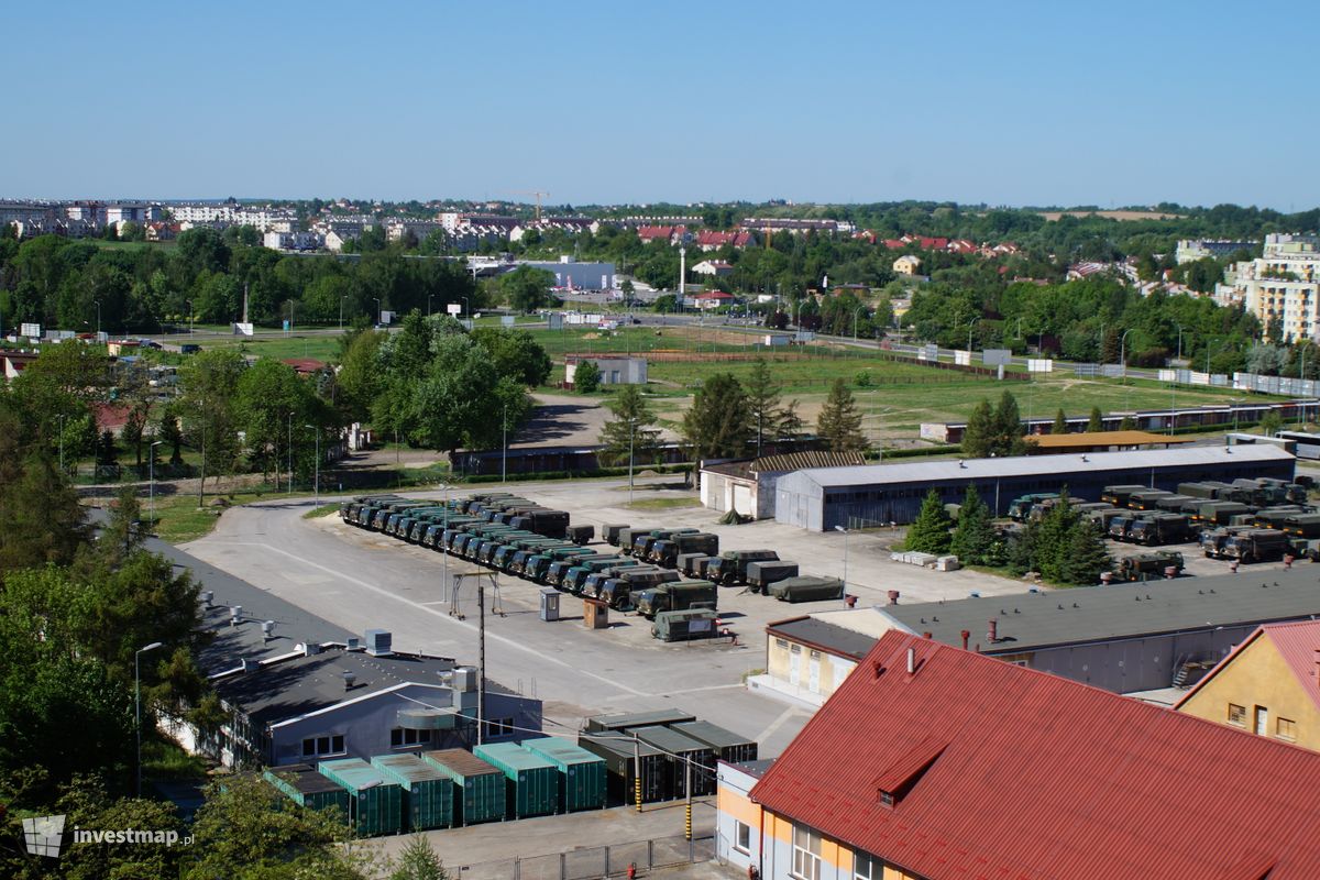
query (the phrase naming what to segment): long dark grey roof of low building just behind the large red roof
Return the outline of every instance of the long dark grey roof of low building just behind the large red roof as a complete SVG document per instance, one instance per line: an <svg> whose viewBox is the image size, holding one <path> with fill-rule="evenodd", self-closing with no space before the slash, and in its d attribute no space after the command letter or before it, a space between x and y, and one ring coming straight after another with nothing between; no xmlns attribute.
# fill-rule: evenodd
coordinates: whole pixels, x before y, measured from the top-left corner
<svg viewBox="0 0 1320 880"><path fill-rule="evenodd" d="M1011 596L884 606L875 612L898 629L986 653L1018 653L1208 627L1258 625L1320 615L1315 569L1247 571ZM998 639L989 641L989 621Z"/></svg>

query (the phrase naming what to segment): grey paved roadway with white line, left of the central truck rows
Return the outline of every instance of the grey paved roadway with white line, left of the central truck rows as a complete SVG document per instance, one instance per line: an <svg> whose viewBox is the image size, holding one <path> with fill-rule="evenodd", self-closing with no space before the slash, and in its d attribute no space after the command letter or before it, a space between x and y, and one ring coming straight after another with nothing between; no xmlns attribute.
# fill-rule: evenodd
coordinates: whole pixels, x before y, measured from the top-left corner
<svg viewBox="0 0 1320 880"><path fill-rule="evenodd" d="M338 517L304 520L310 507L238 508L211 536L183 549L347 629L389 629L400 650L475 662L475 590L461 599L466 619L450 616L440 554L342 525ZM450 575L473 567L453 562ZM549 734L577 730L582 718L599 712L676 706L758 739L763 755L775 756L808 718L743 687L743 676L764 665L763 640L759 646L725 640L661 645L635 616L587 631L573 619L581 612L570 598L564 599L570 619L544 623L537 588L521 579L503 578L502 594L506 616L487 616L487 674L543 699Z"/></svg>

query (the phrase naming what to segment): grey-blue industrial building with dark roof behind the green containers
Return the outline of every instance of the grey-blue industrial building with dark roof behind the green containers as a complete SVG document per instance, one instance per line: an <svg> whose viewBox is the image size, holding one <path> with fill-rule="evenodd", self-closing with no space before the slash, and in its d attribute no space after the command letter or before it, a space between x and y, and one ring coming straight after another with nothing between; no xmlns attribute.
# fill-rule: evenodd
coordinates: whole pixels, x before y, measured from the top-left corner
<svg viewBox="0 0 1320 880"><path fill-rule="evenodd" d="M395 650L385 631L351 633L181 550L165 553L205 584L202 625L214 637L199 666L228 714L215 732L166 722L186 748L226 767L273 767L477 743L475 668ZM541 728L541 702L487 679L484 722L484 741L525 739Z"/></svg>

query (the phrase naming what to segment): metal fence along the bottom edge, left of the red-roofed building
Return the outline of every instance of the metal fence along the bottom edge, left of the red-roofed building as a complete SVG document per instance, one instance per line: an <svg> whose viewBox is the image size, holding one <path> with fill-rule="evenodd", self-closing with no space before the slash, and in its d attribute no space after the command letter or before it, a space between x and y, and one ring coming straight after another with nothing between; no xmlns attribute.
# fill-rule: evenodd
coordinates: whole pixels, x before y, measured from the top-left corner
<svg viewBox="0 0 1320 880"><path fill-rule="evenodd" d="M681 834L631 843L578 847L528 859L511 858L458 865L462 880L598 880L627 876L628 865L638 875L656 868L672 868L715 858L714 833L688 840ZM446 865L453 869L453 865Z"/></svg>

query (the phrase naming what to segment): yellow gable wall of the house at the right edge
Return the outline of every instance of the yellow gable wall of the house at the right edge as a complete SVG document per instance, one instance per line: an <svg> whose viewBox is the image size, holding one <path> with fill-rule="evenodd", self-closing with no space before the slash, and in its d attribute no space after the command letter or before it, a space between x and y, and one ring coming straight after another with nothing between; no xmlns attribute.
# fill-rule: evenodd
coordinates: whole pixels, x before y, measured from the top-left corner
<svg viewBox="0 0 1320 880"><path fill-rule="evenodd" d="M1246 710L1243 724L1236 727L1255 732L1255 708L1259 706L1269 712L1266 736L1286 739L1279 736L1279 719L1286 718L1296 727L1296 738L1286 741L1316 751L1320 749L1320 708L1307 693L1308 687L1313 685L1298 681L1270 637L1258 636L1177 708L1228 724L1229 703L1234 703Z"/></svg>

